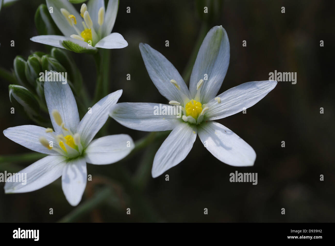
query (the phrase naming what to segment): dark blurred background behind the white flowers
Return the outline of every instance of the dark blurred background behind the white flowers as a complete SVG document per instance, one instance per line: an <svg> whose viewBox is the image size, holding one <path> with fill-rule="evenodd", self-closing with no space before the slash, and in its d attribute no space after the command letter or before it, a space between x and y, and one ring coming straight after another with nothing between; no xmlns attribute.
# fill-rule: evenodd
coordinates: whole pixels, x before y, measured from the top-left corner
<svg viewBox="0 0 335 246"><path fill-rule="evenodd" d="M38 33L34 14L42 0L19 0L0 12L0 66L13 67L16 55L49 48L29 40ZM198 2L197 2L198 3ZM106 185L112 195L78 213L76 222L335 222L334 176L334 1L120 0L113 32L128 42L111 52L111 89L123 89L119 102L167 103L145 69L138 48L148 43L183 71L203 30L222 25L230 41L230 64L219 93L248 81L269 79L269 72L296 72L297 83L278 85L255 106L217 120L256 151L253 167L233 167L213 157L197 138L190 154L153 179L153 155L164 138L124 161L87 165L88 182L81 205ZM127 7L131 13L126 12ZM208 6L208 13L203 7ZM281 7L285 13L281 13ZM76 5L80 8L80 4ZM10 46L10 41L15 46ZM165 40L170 46L165 47ZM247 41L247 47L242 41ZM320 40L324 47L320 47ZM91 96L95 66L89 54L72 53ZM193 61L191 61L193 62ZM130 73L131 80L126 80ZM189 82L189 77L185 81ZM10 114L8 81L1 80L0 129L33 124ZM320 114L320 107L324 114ZM81 115L82 117L82 115ZM136 141L149 133L108 120L109 134L127 133ZM285 148L281 147L285 141ZM32 151L0 136L0 157ZM1 159L1 158L0 158ZM0 172L19 171L32 161L1 162ZM229 174L258 173L258 184L230 183ZM324 175L324 181L320 181ZM78 207L68 204L60 179L38 191L4 194L0 183L0 222L56 222ZM49 214L53 208L54 214ZM131 208L131 215L126 214ZM204 215L208 208L208 215ZM285 215L281 214L285 208Z"/></svg>

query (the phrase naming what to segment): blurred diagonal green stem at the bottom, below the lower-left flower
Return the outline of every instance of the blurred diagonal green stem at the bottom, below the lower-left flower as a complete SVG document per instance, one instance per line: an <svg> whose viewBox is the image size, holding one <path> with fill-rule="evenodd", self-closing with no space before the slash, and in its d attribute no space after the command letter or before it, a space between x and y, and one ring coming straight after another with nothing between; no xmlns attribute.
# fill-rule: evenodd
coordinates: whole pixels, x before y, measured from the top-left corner
<svg viewBox="0 0 335 246"><path fill-rule="evenodd" d="M59 220L59 223L74 222L82 215L88 213L98 205L104 203L112 195L110 187L105 187L98 191L91 199L76 207L71 213Z"/></svg>

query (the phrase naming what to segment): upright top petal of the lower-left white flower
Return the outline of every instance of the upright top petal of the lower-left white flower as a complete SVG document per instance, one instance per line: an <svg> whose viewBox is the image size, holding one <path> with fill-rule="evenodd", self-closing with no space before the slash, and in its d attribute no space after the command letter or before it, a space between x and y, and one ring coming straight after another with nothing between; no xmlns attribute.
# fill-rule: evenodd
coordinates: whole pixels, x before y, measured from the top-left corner
<svg viewBox="0 0 335 246"><path fill-rule="evenodd" d="M62 81L65 78L62 77ZM74 99L73 93L68 83L57 81L45 81L44 82L44 95L47 102L51 123L54 127L54 131L57 134L62 133L62 129L57 125L52 111L58 110L62 116L65 127L69 129L73 134L76 133L79 124L79 113L77 108L76 100Z"/></svg>

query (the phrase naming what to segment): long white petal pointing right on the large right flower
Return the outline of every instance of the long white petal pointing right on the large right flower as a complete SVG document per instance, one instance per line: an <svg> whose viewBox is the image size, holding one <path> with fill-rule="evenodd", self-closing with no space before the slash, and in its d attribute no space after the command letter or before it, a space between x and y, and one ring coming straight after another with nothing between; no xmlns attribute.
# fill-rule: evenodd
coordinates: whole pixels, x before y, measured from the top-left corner
<svg viewBox="0 0 335 246"><path fill-rule="evenodd" d="M206 106L209 107L205 119L214 120L227 117L247 109L263 97L275 86L277 81L252 81L233 87L220 95L221 103L212 99Z"/></svg>

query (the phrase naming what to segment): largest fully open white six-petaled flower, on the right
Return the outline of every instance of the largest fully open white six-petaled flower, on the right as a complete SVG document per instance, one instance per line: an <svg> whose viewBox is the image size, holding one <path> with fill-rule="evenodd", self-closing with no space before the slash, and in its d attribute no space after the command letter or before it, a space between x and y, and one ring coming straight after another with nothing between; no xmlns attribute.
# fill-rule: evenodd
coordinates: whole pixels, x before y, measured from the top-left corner
<svg viewBox="0 0 335 246"><path fill-rule="evenodd" d="M220 161L232 166L253 165L256 159L253 148L213 120L253 106L277 85L277 81L248 82L216 96L230 57L228 36L222 26L213 27L202 42L189 89L177 69L161 53L147 44L140 44L140 50L149 76L160 94L170 101L170 105L181 106L183 111L182 117L155 115L156 103L126 102L112 107L110 116L131 129L173 130L154 157L152 177L158 177L184 160L197 134L207 150Z"/></svg>

